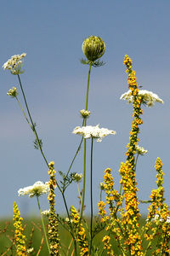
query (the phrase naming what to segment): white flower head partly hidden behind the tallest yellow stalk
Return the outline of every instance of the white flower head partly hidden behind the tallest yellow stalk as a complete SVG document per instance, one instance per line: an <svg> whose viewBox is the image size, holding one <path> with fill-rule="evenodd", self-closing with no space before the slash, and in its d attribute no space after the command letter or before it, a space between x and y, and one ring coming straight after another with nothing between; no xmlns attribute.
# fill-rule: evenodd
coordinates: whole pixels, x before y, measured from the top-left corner
<svg viewBox="0 0 170 256"><path fill-rule="evenodd" d="M127 90L120 97L121 100L127 100L128 103L133 102L133 96L131 94L131 90ZM149 90L139 90L139 96L142 96L142 103L148 107L153 107L156 102L163 103L161 98Z"/></svg>

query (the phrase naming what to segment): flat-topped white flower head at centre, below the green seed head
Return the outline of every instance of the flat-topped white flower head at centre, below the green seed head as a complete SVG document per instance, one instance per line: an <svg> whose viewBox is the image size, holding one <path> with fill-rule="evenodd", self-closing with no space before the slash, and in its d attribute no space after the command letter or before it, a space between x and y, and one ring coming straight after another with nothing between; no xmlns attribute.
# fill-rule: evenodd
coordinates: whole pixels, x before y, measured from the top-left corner
<svg viewBox="0 0 170 256"><path fill-rule="evenodd" d="M101 142L102 139L104 137L106 137L107 135L116 134L116 131L111 131L108 130L106 128L99 128L99 125L96 126L77 126L74 131L72 131L72 133L74 134L80 134L82 135L84 138L90 138L90 137L94 137L95 139L97 139L97 142Z"/></svg>

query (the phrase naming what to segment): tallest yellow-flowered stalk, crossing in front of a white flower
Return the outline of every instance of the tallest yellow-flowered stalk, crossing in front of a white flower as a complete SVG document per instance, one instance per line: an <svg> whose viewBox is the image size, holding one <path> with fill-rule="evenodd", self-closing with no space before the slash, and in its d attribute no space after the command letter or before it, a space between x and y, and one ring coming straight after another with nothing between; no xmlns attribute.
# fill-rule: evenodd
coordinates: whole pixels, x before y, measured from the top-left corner
<svg viewBox="0 0 170 256"><path fill-rule="evenodd" d="M139 88L135 77L135 72L132 69L133 61L125 55L124 65L127 66L128 73L128 88L130 96L133 97L133 122L132 130L130 131L129 143L127 144L127 161L122 163L120 174L122 179L120 181L125 199L125 211L122 212L123 233L126 237L125 244L130 255L143 255L142 241L139 236L139 201L137 197L137 183L135 174L135 157L136 146L139 142L139 125L143 123L140 114L143 110L140 108L142 97L139 95Z"/></svg>

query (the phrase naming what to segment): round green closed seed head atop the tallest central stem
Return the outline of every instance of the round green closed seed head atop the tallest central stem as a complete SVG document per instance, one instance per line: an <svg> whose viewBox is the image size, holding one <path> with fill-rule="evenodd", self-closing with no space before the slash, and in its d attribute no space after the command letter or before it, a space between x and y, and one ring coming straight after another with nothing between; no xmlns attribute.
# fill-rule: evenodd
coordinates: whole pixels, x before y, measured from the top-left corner
<svg viewBox="0 0 170 256"><path fill-rule="evenodd" d="M88 61L94 62L104 55L105 43L102 38L91 36L83 41L82 51Z"/></svg>

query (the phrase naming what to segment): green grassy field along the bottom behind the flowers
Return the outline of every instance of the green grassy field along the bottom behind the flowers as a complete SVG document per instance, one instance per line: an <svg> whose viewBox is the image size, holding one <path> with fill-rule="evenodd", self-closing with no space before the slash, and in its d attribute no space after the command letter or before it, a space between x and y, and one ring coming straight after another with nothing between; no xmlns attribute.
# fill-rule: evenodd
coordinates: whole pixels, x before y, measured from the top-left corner
<svg viewBox="0 0 170 256"><path fill-rule="evenodd" d="M41 247L41 252L38 255L48 255L48 248L46 246L45 240L42 243L42 224L40 218L25 218L23 221L25 225L25 235L27 246L34 247L35 251L30 253L31 256L37 255L38 250ZM46 223L47 224L47 223ZM141 225L144 224L144 219L141 221ZM32 232L32 228L34 231ZM14 245L12 242L14 235L14 226L13 221L11 219L1 219L0 220L0 255L15 255L14 253ZM100 232L94 238L94 245L96 248L100 249L100 253L96 255L106 255L106 253L102 253L103 242L102 238L105 235L105 231ZM71 243L71 235L61 226L59 225L59 238L62 241L61 244L61 255L71 256L73 250L73 243ZM115 244L115 241L113 241ZM115 244L116 245L116 244ZM11 247L10 250L7 249ZM7 253L5 253L7 252ZM122 255L120 251L116 250L116 255ZM151 255L151 254L147 254Z"/></svg>

